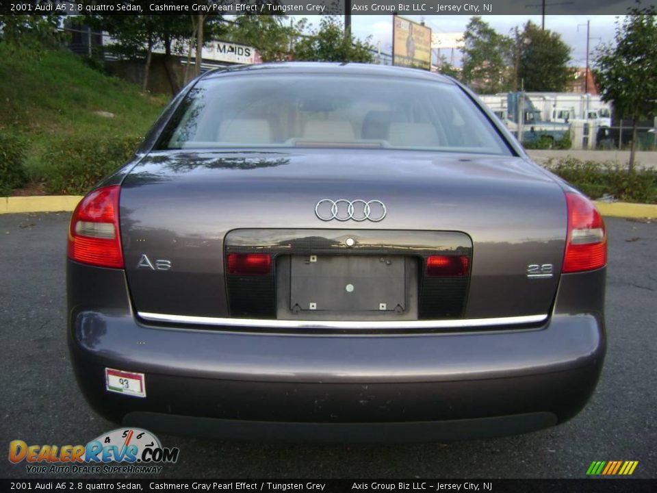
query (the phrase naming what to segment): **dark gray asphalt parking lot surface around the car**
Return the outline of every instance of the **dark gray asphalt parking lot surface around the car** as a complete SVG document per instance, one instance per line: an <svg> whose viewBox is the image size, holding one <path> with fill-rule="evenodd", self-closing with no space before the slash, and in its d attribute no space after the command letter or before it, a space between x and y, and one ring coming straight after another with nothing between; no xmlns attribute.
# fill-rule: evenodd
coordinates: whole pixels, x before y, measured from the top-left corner
<svg viewBox="0 0 657 493"><path fill-rule="evenodd" d="M38 479L25 462L8 461L11 440L86 444L115 428L87 407L68 362L69 215L0 215L0 477ZM159 477L582 478L593 460L638 460L634 477L657 477L657 223L606 224L607 359L589 406L565 425L495 440L384 446L160 435L164 446L181 451Z"/></svg>

